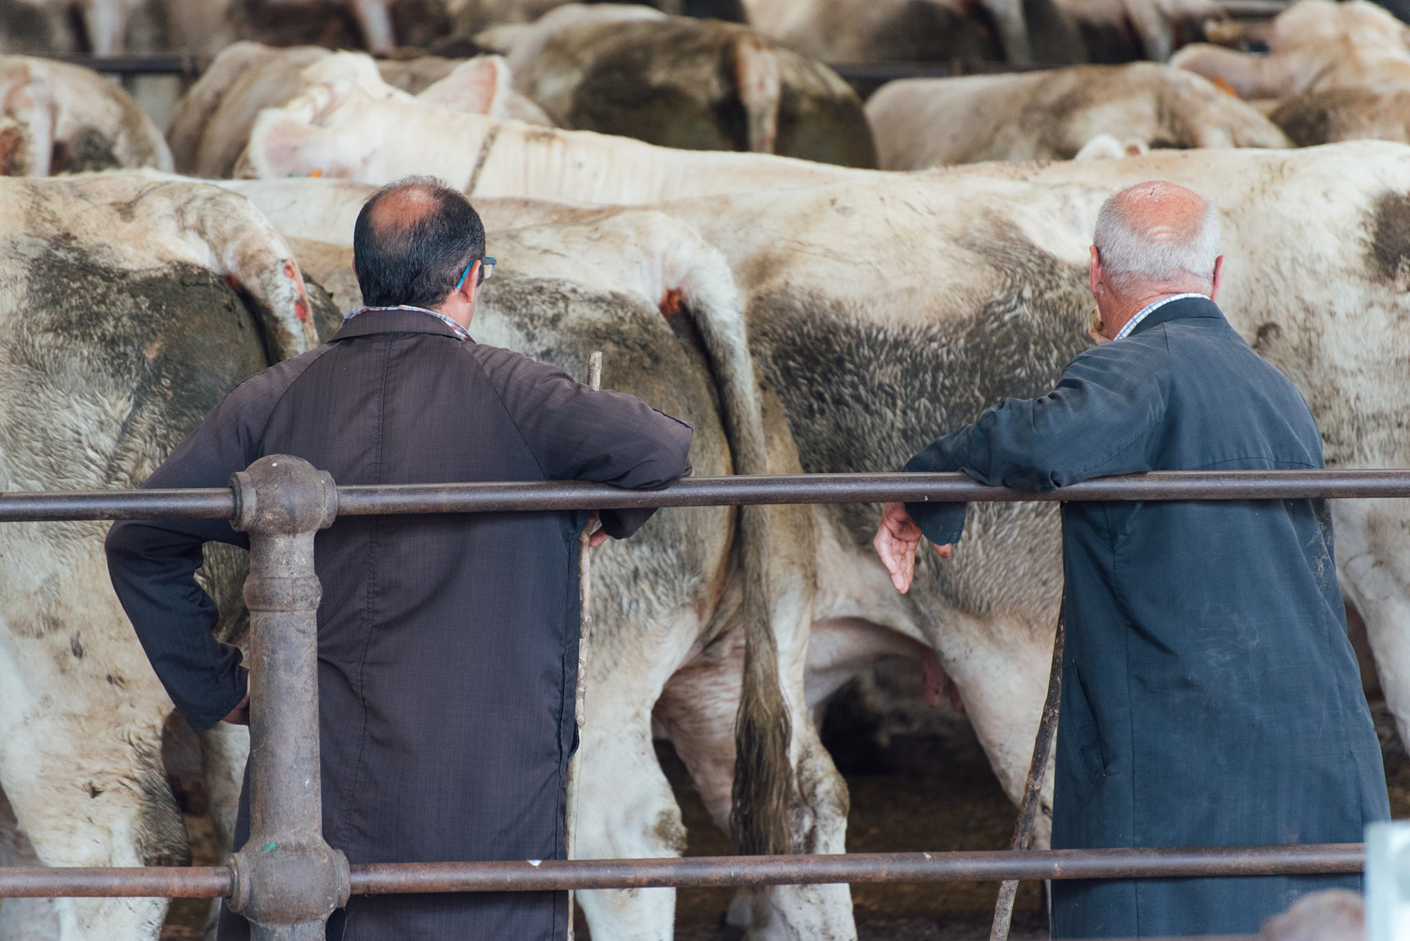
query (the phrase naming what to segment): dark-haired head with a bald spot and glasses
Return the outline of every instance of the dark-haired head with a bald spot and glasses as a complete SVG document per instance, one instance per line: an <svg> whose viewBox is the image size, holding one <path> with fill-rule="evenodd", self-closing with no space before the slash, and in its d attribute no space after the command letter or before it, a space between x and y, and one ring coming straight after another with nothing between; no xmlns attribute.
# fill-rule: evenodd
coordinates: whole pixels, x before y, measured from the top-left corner
<svg viewBox="0 0 1410 941"><path fill-rule="evenodd" d="M436 308L485 257L485 227L460 190L407 176L372 193L352 230L352 267L369 306Z"/></svg>

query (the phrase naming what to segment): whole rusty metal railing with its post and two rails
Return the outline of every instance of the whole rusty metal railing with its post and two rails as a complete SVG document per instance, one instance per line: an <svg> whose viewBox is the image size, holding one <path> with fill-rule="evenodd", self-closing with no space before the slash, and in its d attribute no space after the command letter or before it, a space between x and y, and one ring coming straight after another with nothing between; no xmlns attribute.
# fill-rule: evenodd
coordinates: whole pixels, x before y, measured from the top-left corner
<svg viewBox="0 0 1410 941"><path fill-rule="evenodd" d="M1410 470L1163 471L1050 492L963 474L687 478L660 491L605 484L338 487L302 459L264 457L228 488L11 491L0 522L230 519L250 535L251 837L226 866L4 868L0 897L223 897L259 941L323 937L351 894L660 886L1354 873L1362 844L1159 849L836 854L348 865L321 834L314 535L340 515L620 509L744 504L1407 498Z"/></svg>

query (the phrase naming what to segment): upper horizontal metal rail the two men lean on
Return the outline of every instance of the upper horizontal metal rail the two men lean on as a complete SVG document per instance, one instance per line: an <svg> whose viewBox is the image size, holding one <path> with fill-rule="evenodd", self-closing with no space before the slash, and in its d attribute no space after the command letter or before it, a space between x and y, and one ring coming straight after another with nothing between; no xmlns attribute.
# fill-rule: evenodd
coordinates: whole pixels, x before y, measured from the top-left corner
<svg viewBox="0 0 1410 941"><path fill-rule="evenodd" d="M484 514L744 504L1015 502L1094 499L1307 499L1410 497L1410 470L1155 471L1098 477L1046 492L986 487L964 474L777 474L688 477L666 490L585 481L340 487L338 515ZM228 490L0 492L0 522L219 519Z"/></svg>

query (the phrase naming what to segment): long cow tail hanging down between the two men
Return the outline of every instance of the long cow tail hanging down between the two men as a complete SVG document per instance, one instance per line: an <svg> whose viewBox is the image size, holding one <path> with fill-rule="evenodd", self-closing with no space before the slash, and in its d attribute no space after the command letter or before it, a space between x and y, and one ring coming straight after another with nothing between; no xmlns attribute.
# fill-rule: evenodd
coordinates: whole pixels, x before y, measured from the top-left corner
<svg viewBox="0 0 1410 941"><path fill-rule="evenodd" d="M697 268L689 279L695 284L682 285L684 299L721 394L735 473L763 474L768 470L768 457L743 305L725 260L713 250L709 253L718 264L706 267L721 274L706 278ZM768 509L740 506L736 557L743 588L739 618L744 631L744 667L735 717L735 783L729 822L736 849L756 855L785 854L792 846L788 827L794 793L790 760L792 724L778 677L778 641L768 591Z"/></svg>

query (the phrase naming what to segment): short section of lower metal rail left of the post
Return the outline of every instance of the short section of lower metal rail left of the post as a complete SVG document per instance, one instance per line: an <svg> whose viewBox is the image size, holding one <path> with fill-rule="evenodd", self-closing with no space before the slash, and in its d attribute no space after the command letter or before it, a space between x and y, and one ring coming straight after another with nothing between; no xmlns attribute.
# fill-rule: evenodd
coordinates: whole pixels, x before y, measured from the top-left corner
<svg viewBox="0 0 1410 941"><path fill-rule="evenodd" d="M226 866L21 866L0 869L0 899L224 899Z"/></svg>

